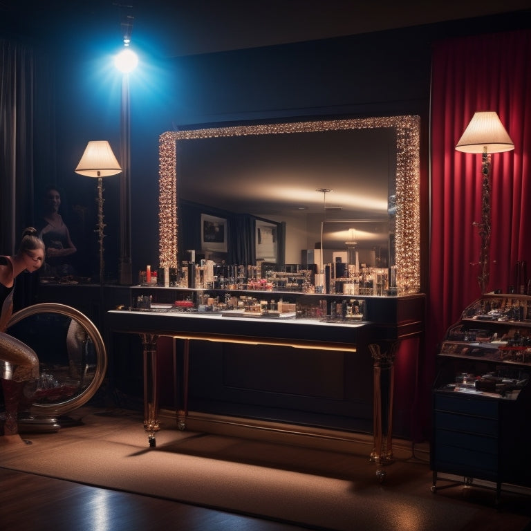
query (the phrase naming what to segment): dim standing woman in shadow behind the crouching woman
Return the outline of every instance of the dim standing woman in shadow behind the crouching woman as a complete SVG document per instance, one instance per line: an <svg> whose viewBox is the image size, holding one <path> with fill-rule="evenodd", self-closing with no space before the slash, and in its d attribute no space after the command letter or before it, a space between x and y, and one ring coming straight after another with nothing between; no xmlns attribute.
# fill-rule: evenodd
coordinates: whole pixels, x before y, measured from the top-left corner
<svg viewBox="0 0 531 531"><path fill-rule="evenodd" d="M44 207L44 226L39 232L39 237L46 245L45 274L51 277L66 277L74 274L71 255L77 249L71 240L66 223L59 214L61 194L57 187L48 186L46 188Z"/></svg>

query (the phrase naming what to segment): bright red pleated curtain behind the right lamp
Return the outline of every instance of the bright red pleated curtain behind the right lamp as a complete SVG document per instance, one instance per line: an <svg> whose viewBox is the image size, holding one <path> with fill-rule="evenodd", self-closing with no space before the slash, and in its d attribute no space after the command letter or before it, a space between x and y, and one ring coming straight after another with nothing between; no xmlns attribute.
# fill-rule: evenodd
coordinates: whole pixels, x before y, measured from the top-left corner
<svg viewBox="0 0 531 531"><path fill-rule="evenodd" d="M475 111L496 111L515 146L492 154L486 291L506 292L516 261L527 262L531 278L531 31L441 41L432 67L426 382L433 382L437 345L448 326L481 295L481 239L473 226L481 222L481 155L455 150Z"/></svg>

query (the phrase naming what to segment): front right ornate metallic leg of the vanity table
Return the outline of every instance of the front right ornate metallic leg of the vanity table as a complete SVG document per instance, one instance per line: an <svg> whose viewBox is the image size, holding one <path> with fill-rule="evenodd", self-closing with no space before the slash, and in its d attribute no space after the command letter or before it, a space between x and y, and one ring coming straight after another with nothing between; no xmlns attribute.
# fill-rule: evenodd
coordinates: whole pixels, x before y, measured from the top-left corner
<svg viewBox="0 0 531 531"><path fill-rule="evenodd" d="M380 482L385 478L382 467L393 463L393 362L399 344L400 342L391 343L388 351L383 353L380 345L369 344L374 362L374 443L371 461L376 464L376 477Z"/></svg>

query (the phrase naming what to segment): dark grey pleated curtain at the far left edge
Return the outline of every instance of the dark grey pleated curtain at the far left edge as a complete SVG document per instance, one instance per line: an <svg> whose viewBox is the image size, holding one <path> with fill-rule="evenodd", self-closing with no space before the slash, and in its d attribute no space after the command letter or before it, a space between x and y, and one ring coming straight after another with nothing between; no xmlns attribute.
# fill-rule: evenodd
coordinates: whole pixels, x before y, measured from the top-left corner
<svg viewBox="0 0 531 531"><path fill-rule="evenodd" d="M45 51L0 39L0 253L3 254L14 252L24 228L35 225L35 190L57 178L51 64Z"/></svg>

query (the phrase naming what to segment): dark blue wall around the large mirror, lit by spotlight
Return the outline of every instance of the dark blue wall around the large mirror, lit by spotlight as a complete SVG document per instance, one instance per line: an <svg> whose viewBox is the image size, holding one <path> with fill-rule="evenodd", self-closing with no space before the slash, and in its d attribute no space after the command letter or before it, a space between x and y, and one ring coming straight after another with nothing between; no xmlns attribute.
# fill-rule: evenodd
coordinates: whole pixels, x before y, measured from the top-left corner
<svg viewBox="0 0 531 531"><path fill-rule="evenodd" d="M514 16L483 18L176 59L141 55L141 65L130 77L133 280L146 263L158 261L160 133L190 124L254 119L418 114L427 199L434 40L517 24ZM57 71L59 171L73 174L87 140L108 139L115 150L119 147L121 82L110 61L103 48L88 44L62 57ZM87 201L95 194L95 183L88 181L75 177L71 196ZM106 180L108 269L118 264L118 182Z"/></svg>

